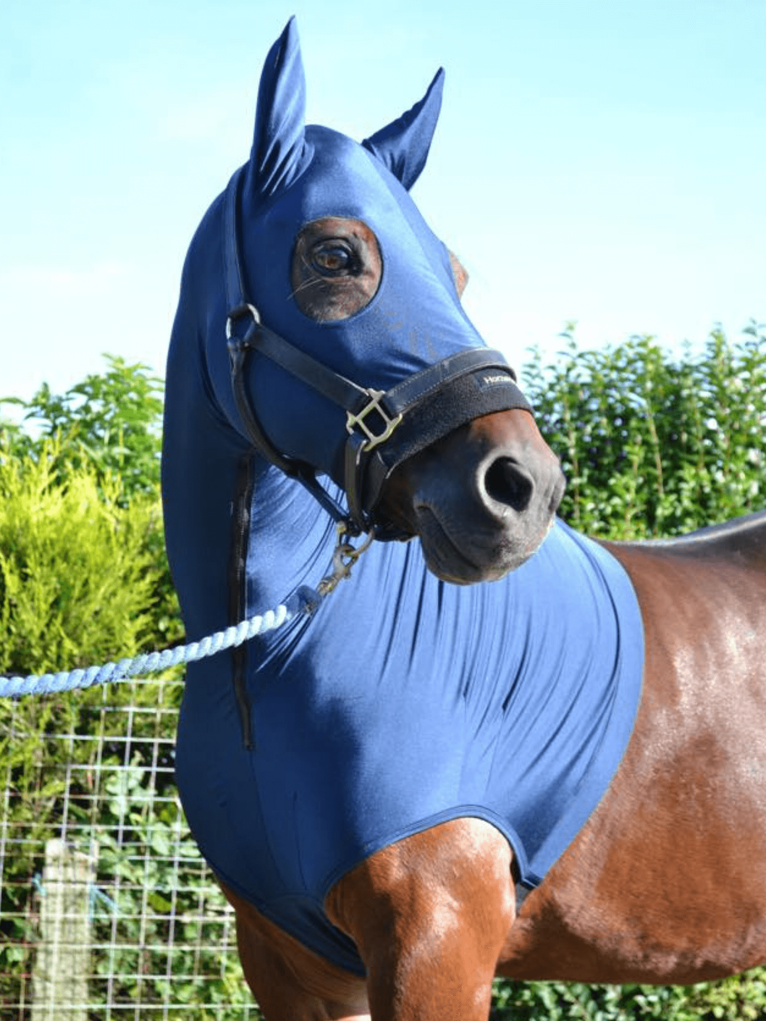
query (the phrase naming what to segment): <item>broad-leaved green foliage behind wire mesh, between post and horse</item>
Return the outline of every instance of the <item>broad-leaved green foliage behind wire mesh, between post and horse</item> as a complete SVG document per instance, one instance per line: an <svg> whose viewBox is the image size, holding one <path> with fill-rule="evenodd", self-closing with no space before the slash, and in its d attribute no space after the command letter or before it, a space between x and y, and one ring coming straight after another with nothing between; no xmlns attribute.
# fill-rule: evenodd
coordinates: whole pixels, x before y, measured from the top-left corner
<svg viewBox="0 0 766 1021"><path fill-rule="evenodd" d="M249 1006L254 1017L236 956L220 954L221 890L199 861L177 801L158 799L138 763L110 773L104 787L99 872L105 883L114 876L121 882L94 913L94 942L112 939L117 929L113 952L99 961L103 980L92 983L94 999L100 994L112 1007L170 1001L178 1010L163 1014L169 1018L218 1016L205 1013L218 1006L238 1018ZM179 861L188 863L183 870ZM198 980L189 981L194 975Z"/></svg>

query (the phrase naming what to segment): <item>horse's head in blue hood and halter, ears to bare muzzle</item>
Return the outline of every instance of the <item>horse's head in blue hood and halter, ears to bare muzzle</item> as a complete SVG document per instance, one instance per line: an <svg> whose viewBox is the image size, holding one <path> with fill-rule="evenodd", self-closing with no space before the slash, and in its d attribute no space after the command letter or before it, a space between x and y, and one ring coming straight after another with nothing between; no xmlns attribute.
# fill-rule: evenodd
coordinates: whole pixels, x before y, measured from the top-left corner
<svg viewBox="0 0 766 1021"><path fill-rule="evenodd" d="M362 145L306 126L290 21L227 193L225 262L255 445L310 487L329 475L357 528L419 535L436 575L470 583L534 552L564 484L513 371L463 311L464 270L409 194L442 81Z"/></svg>

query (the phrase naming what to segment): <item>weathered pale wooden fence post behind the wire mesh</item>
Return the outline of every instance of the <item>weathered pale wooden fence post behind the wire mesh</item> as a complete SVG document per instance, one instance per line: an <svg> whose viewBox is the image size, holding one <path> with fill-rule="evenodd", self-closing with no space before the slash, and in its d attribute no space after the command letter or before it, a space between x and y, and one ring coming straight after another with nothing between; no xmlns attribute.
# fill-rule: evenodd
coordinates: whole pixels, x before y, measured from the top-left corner
<svg viewBox="0 0 766 1021"><path fill-rule="evenodd" d="M45 845L32 1021L88 1021L90 897L95 862L64 840Z"/></svg>

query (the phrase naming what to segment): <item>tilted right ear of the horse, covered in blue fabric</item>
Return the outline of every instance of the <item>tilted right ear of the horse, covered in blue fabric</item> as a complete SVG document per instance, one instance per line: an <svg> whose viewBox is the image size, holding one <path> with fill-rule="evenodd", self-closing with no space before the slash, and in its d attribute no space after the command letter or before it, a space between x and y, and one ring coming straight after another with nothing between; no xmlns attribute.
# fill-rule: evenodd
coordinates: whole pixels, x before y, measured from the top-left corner
<svg viewBox="0 0 766 1021"><path fill-rule="evenodd" d="M443 87L444 70L440 67L419 103L362 143L385 163L408 191L426 165L436 121L439 119Z"/></svg>

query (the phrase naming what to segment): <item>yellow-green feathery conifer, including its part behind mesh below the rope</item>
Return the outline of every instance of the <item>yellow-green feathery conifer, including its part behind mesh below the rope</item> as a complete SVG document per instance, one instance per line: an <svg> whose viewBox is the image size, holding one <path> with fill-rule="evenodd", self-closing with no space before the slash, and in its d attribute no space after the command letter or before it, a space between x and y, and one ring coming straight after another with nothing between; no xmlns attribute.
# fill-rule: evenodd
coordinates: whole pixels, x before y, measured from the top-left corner
<svg viewBox="0 0 766 1021"><path fill-rule="evenodd" d="M159 501L123 506L119 480L87 467L56 480L59 441L37 459L0 446L0 674L74 669L133 655L154 636L160 572L147 537ZM42 841L55 827L65 771L47 735L79 732L88 696L0 700L0 762L13 787L13 824ZM60 749L59 749L60 756ZM22 856L7 864L23 870Z"/></svg>

